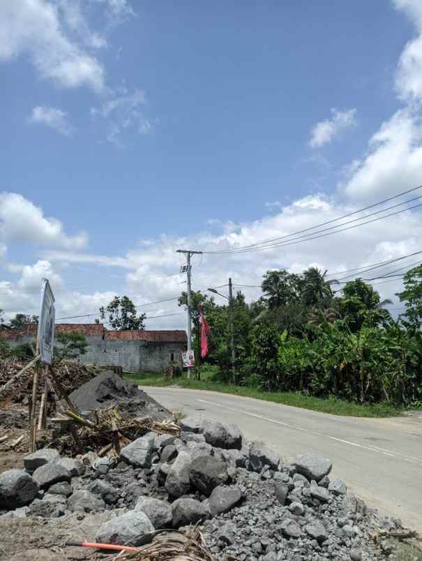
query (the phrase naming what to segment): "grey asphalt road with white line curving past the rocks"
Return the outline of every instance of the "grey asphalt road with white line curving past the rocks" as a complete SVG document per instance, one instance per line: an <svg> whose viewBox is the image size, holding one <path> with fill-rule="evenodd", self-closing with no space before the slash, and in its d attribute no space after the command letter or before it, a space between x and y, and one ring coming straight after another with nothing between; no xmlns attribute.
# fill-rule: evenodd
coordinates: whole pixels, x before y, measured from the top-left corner
<svg viewBox="0 0 422 561"><path fill-rule="evenodd" d="M422 533L422 414L363 419L308 411L214 391L144 388L169 410L236 423L282 458L309 451L330 458L331 478L384 514Z"/></svg>

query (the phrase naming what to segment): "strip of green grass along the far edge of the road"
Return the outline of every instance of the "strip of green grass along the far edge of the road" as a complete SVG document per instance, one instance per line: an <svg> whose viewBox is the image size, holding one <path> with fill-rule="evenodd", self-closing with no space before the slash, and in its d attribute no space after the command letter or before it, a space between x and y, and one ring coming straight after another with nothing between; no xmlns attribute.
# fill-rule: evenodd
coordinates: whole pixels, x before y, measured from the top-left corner
<svg viewBox="0 0 422 561"><path fill-rule="evenodd" d="M375 405L358 405L343 399L334 397L316 398L304 396L297 392L289 391L262 391L246 386L234 386L215 380L188 380L186 377L167 380L160 374L131 374L126 373L124 377L133 380L140 386L168 387L178 386L188 389L206 389L220 391L223 394L234 394L293 407L303 407L312 411L331 413L333 415L347 415L349 417L394 417L402 414L404 409L395 407L389 403L378 403Z"/></svg>

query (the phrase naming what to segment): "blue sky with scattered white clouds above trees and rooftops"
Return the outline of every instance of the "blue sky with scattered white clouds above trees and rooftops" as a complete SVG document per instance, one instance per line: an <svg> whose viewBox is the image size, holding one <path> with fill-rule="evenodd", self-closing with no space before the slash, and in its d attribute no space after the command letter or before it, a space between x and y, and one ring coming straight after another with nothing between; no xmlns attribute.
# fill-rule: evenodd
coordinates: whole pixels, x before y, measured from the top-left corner
<svg viewBox="0 0 422 561"><path fill-rule="evenodd" d="M254 243L416 186L421 29L418 0L0 1L0 308L36 309L43 275L66 314L156 301L183 288L153 278L182 244ZM419 218L204 257L197 280L405 255Z"/></svg>

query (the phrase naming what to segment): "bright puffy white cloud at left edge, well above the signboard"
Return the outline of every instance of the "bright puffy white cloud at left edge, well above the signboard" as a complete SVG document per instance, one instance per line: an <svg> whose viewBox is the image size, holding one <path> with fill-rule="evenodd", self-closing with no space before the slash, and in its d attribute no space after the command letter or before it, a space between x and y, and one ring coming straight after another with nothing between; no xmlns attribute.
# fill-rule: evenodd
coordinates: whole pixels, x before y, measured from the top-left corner
<svg viewBox="0 0 422 561"><path fill-rule="evenodd" d="M25 241L35 245L83 248L83 232L69 236L56 218L46 218L43 210L18 193L0 193L0 239Z"/></svg>

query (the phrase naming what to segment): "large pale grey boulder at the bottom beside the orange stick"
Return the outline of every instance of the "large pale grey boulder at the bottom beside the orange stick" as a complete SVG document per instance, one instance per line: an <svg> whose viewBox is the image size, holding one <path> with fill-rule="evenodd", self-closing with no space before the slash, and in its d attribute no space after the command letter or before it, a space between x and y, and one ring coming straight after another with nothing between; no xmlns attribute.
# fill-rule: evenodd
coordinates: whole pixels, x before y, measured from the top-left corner
<svg viewBox="0 0 422 561"><path fill-rule="evenodd" d="M150 537L145 537L144 534L153 530L154 527L144 512L130 510L101 525L96 534L96 541L101 544L141 546L150 541Z"/></svg>

